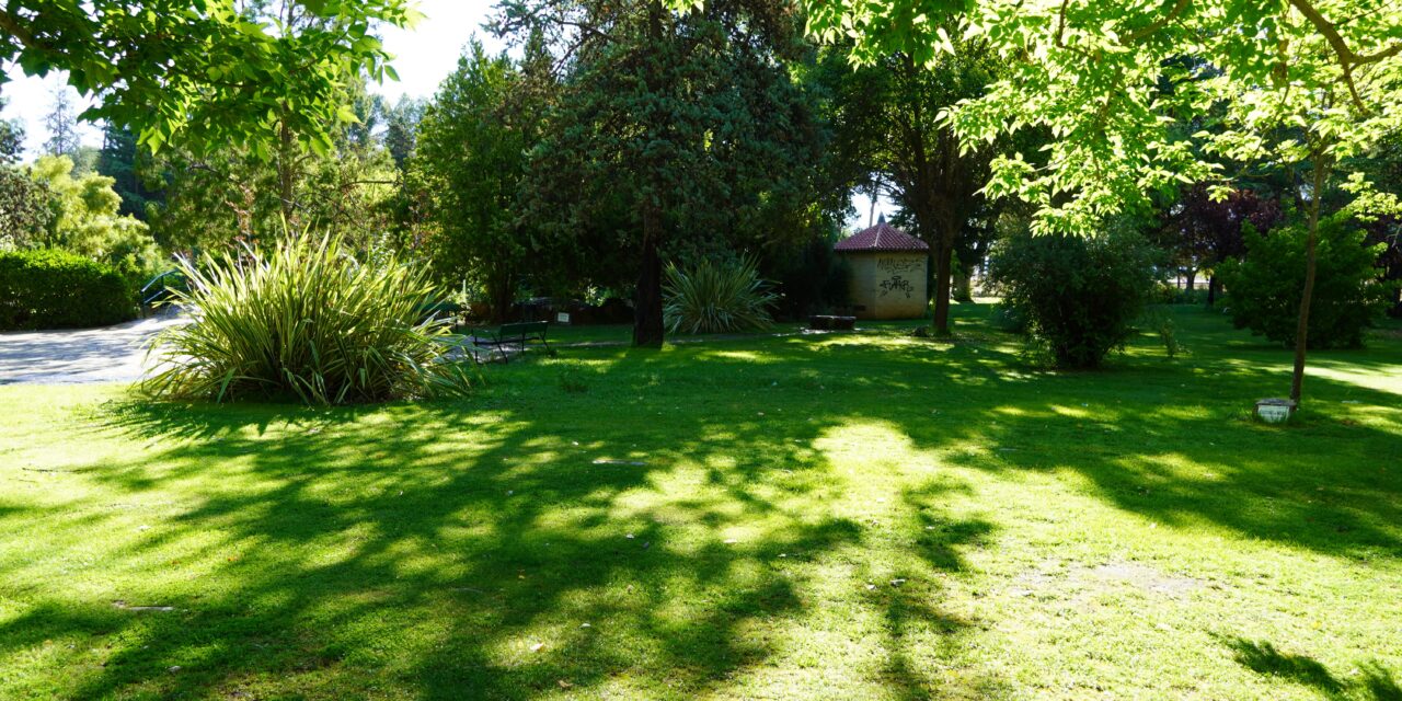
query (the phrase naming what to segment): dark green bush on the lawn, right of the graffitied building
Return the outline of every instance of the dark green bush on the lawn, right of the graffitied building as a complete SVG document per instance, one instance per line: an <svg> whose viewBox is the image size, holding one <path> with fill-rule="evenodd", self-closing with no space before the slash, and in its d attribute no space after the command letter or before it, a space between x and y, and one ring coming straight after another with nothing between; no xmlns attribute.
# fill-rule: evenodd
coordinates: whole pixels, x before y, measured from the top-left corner
<svg viewBox="0 0 1402 701"><path fill-rule="evenodd" d="M1011 318L1061 367L1095 367L1134 332L1154 289L1154 250L1136 233L1018 233L1000 241L990 278Z"/></svg>

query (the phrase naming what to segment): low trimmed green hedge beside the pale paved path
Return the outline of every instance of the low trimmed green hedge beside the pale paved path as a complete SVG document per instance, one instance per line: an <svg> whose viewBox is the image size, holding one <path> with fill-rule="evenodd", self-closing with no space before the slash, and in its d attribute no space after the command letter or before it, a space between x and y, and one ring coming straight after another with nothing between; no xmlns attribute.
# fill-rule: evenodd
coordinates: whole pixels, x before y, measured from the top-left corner
<svg viewBox="0 0 1402 701"><path fill-rule="evenodd" d="M0 251L0 329L105 327L136 318L115 269L67 251Z"/></svg>

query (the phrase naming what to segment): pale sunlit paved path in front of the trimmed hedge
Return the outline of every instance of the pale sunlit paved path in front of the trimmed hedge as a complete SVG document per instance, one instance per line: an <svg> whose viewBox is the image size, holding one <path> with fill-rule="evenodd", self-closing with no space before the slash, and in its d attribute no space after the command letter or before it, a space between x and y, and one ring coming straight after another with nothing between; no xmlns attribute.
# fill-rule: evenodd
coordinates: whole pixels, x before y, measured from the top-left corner
<svg viewBox="0 0 1402 701"><path fill-rule="evenodd" d="M151 336L182 321L163 314L105 328L0 334L0 384L135 381Z"/></svg>

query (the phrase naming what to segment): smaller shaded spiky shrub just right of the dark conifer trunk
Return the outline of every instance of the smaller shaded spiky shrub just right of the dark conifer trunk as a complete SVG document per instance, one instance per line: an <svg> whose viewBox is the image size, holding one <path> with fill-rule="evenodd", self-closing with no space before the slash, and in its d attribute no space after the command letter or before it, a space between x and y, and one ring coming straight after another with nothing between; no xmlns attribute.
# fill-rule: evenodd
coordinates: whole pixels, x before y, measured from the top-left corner
<svg viewBox="0 0 1402 701"><path fill-rule="evenodd" d="M667 264L662 294L667 329L687 334L770 328L770 308L780 300L747 258L700 261L686 271Z"/></svg>

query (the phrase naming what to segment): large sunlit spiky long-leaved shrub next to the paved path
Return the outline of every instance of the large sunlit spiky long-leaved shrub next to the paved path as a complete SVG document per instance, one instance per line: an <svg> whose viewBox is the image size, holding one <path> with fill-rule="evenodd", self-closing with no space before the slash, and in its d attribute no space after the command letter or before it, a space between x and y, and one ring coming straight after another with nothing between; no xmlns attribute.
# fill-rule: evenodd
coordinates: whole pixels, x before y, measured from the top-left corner
<svg viewBox="0 0 1402 701"><path fill-rule="evenodd" d="M349 404L468 388L446 362L447 321L421 321L440 297L422 266L362 262L339 237L308 233L266 255L244 247L181 268L189 289L172 301L191 322L157 338L151 395Z"/></svg>

